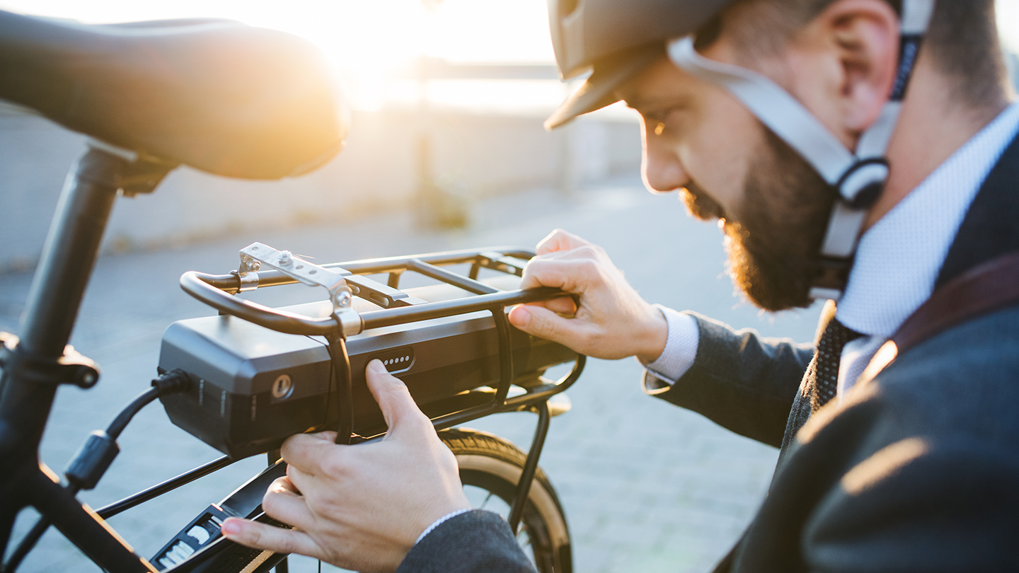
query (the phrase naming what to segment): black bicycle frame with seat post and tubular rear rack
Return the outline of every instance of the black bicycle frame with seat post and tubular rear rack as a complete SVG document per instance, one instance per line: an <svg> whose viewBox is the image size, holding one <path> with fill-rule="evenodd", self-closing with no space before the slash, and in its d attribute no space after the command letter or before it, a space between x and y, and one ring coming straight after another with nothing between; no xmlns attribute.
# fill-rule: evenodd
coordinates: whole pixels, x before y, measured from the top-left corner
<svg viewBox="0 0 1019 573"><path fill-rule="evenodd" d="M91 360L67 346L82 299L92 273L103 231L113 202L118 194L132 196L155 189L174 165L121 154L96 144L78 159L61 194L57 212L43 249L39 267L33 279L20 338L7 335L0 338L0 459L6 471L0 473L0 556L6 552L14 519L21 509L32 506L90 560L106 571L157 571L146 559L135 554L103 520L119 511L133 507L169 489L187 483L225 465L223 460L206 464L173 480L172 486L157 485L99 513L85 507L74 498L74 491L61 485L60 478L39 459L39 446L50 410L60 384L73 383L91 387L99 378L99 368ZM524 251L505 250L519 256ZM473 262L471 275L463 277L436 266ZM562 296L550 289L497 292L478 282L478 270L505 267L507 259L478 251L461 251L429 257L390 258L347 264L344 272L388 272L389 284L381 285L369 279L348 276L351 289L362 296L382 303L385 310L362 315L362 328L425 320L487 310L492 313L499 340L499 383L494 392L472 392L451 413L433 419L437 429L450 427L496 412L529 409L538 414L538 427L531 451L518 484L509 522L514 529L520 521L524 502L537 468L538 457L548 428L547 400L569 387L580 376L584 357L578 355L572 372L557 382L527 388L526 394L508 398L514 378L511 326L504 308L511 304L546 300ZM330 265L325 265L330 266ZM335 267L335 265L331 265ZM428 303L421 306L394 298L399 275L413 270L440 281L454 284L478 296ZM522 267L512 269L515 274ZM294 282L279 271L258 273L258 285L266 287ZM189 272L181 276L181 287L199 300L246 320L276 330L302 333L335 333L337 321L298 317L250 303L230 294L250 290L243 276L208 275ZM367 298L367 297L366 297ZM342 329L342 325L340 325ZM340 330L340 335L343 332ZM270 468L267 472L279 471ZM112 510L112 511L111 511ZM101 517L102 514L102 517ZM176 569L176 568L174 568Z"/></svg>

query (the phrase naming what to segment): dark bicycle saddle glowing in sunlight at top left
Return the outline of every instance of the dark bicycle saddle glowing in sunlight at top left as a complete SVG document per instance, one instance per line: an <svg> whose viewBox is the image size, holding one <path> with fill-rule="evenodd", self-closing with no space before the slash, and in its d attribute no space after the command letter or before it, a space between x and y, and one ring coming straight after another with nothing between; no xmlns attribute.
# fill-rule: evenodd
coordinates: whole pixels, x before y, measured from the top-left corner
<svg viewBox="0 0 1019 573"><path fill-rule="evenodd" d="M315 169L348 123L316 47L221 19L82 24L0 11L0 98L231 177Z"/></svg>

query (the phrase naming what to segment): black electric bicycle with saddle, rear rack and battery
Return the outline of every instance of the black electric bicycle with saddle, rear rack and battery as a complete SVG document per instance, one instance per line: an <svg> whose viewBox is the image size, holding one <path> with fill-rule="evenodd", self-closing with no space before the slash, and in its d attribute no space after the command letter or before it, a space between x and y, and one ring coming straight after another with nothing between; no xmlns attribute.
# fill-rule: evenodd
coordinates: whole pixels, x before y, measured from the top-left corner
<svg viewBox="0 0 1019 573"><path fill-rule="evenodd" d="M138 51L140 46L146 50ZM212 55L229 54L226 60L233 68L245 67L235 59L240 52L242 64L272 53L275 67L251 75L238 88L230 84L235 74L217 74L225 73L223 61L217 63L210 50ZM307 172L338 151L345 124L314 50L292 37L226 20L79 25L0 12L0 53L7 54L2 62L8 69L25 73L0 87L0 97L94 138L62 192L20 335L0 335L0 458L5 460L0 475L0 553L6 553L13 520L22 508L33 506L43 516L11 553L5 571L17 567L50 525L107 571L285 571L286 556L235 545L219 535L217 524L230 515L271 521L260 502L266 486L285 469L278 448L287 435L336 428L337 440L356 444L384 433L364 385L364 366L373 358L382 359L390 372L407 380L457 455L465 486L478 488L485 501L502 501L511 526L526 534L536 568L543 573L572 571L567 521L537 463L550 416L566 409L554 403L550 407L549 400L576 381L584 357L509 326L507 306L564 296L550 289L504 290L495 284L522 274L524 261L533 253L520 249L317 265L254 244L242 250L240 265L229 274L185 273L181 287L217 309L219 316L179 321L167 330L152 389L133 400L105 431L89 436L61 483L39 460L38 448L57 387L89 388L100 377L98 365L67 342L115 198L153 192L179 164L249 178ZM140 53L155 54L166 67L189 73L178 77L143 66L139 62L146 60L139 59ZM83 60L90 65L83 67ZM147 81L160 91L111 89L137 89ZM68 84L77 98L69 107L47 89ZM236 105L231 96L238 89L254 94L261 90L266 97L248 98L248 107L231 115L226 112ZM195 94L219 96L195 99ZM174 103L178 99L194 107L181 111ZM271 115L280 109L289 115ZM221 120L223 114L229 117ZM263 115L270 116L255 121L261 131L252 129L251 118ZM303 136L296 145L292 135L302 129L312 129L314 137ZM253 131L279 139L253 146L248 141ZM177 138L164 137L168 133ZM462 264L470 265L467 274L449 268ZM482 271L497 279L482 279ZM411 272L437 280L437 289L399 290L400 276ZM387 275L386 283L367 276L379 273ZM328 300L273 309L237 296L293 282L325 288ZM210 327L218 334L210 335ZM253 341L269 341L268 346L286 352L254 356ZM210 358L212 354L216 356ZM261 360L258 367L244 376L222 372L224 361L247 360L251 365L256 359ZM573 370L560 380L542 377L547 367L569 361L574 362ZM96 485L117 453L120 431L157 399L174 423L226 455L88 511L74 496ZM538 414L528 454L492 434L448 429L521 410ZM209 412L212 415L206 415ZM264 472L210 505L151 560L135 554L104 522L232 461L263 453L270 462Z"/></svg>

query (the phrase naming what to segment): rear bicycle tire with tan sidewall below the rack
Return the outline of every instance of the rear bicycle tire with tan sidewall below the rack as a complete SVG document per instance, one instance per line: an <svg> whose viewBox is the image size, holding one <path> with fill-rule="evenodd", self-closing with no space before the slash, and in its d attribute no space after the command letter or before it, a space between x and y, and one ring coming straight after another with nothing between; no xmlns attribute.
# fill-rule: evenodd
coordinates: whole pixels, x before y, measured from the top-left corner
<svg viewBox="0 0 1019 573"><path fill-rule="evenodd" d="M501 500L507 513L517 494L527 454L506 439L476 429L450 428L438 434L457 456L465 490L473 486L489 491ZM534 559L539 573L573 573L573 550L566 514L540 467L535 472L524 507L520 530L518 540L521 534L526 534L531 551L525 548L525 553Z"/></svg>

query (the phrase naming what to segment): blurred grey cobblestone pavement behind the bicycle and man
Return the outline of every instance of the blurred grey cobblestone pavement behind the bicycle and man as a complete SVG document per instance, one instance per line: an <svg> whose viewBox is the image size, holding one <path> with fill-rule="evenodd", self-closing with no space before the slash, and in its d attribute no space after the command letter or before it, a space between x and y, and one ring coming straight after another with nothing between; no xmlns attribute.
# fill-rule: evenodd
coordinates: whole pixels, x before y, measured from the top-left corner
<svg viewBox="0 0 1019 573"><path fill-rule="evenodd" d="M554 227L604 246L649 301L694 309L769 335L799 341L812 336L816 307L770 316L734 298L722 273L718 230L690 219L675 198L644 193L634 176L593 186L572 200L549 191L486 200L476 206L475 224L466 231L415 230L411 215L401 213L354 224L242 233L215 244L99 261L71 342L102 365L103 378L89 392L59 392L43 440L43 459L62 469L89 431L105 427L147 387L163 329L173 320L209 314L178 289L177 277L185 270L235 268L237 250L253 241L331 261L507 244L531 247ZM0 328L16 330L30 280L26 274L0 275ZM309 298L310 292L289 291L297 299ZM256 295L260 302L284 302L272 292ZM639 374L632 359L590 361L569 393L573 410L552 420L542 466L566 507L576 570L709 570L753 515L776 452L644 396ZM532 414L502 414L472 425L526 449L534 422ZM104 481L82 496L92 507L218 456L170 424L158 405L143 411L119 442L121 454ZM140 554L151 556L197 512L223 498L263 463L262 457L243 461L111 523ZM18 532L31 524L30 514L18 520ZM315 567L310 560L291 562L291 571ZM51 531L21 570L96 569Z"/></svg>

